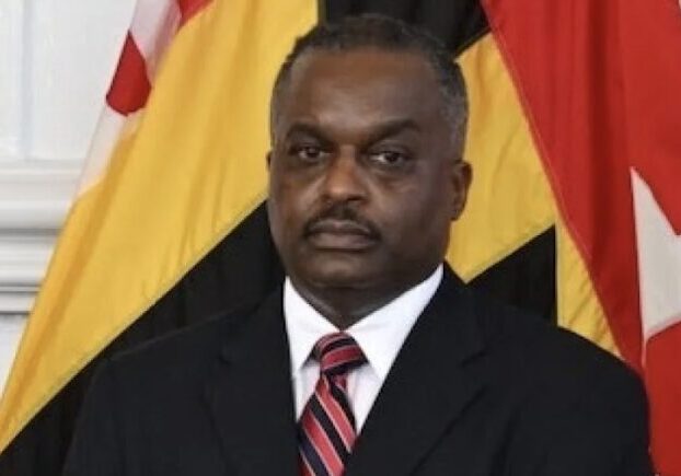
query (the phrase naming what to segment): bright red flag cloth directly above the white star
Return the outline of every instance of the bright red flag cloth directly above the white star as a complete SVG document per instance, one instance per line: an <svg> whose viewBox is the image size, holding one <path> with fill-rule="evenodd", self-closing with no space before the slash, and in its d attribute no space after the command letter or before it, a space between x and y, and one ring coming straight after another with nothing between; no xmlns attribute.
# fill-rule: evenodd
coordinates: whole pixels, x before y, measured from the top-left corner
<svg viewBox="0 0 681 476"><path fill-rule="evenodd" d="M681 235L681 5L625 2L622 35L627 141L632 165Z"/></svg>

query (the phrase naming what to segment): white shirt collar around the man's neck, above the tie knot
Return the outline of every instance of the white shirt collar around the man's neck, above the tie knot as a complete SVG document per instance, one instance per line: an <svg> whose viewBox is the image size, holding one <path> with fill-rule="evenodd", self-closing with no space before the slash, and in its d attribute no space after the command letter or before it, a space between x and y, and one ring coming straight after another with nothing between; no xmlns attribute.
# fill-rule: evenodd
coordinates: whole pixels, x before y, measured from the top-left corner
<svg viewBox="0 0 681 476"><path fill-rule="evenodd" d="M384 380L402 344L435 294L442 279L442 265L424 281L346 329L361 347L369 365ZM298 375L314 344L338 329L312 307L290 279L284 283L284 317L291 356L291 374Z"/></svg>

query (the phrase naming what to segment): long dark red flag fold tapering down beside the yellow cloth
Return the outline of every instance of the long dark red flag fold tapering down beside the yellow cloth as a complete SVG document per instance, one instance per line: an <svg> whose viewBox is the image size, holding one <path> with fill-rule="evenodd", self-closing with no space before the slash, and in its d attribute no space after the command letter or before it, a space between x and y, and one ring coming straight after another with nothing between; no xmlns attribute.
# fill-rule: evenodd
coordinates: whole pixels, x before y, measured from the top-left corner
<svg viewBox="0 0 681 476"><path fill-rule="evenodd" d="M640 306L624 104L617 86L622 45L615 4L624 3L484 1L562 217L586 262L617 347L640 369Z"/></svg>

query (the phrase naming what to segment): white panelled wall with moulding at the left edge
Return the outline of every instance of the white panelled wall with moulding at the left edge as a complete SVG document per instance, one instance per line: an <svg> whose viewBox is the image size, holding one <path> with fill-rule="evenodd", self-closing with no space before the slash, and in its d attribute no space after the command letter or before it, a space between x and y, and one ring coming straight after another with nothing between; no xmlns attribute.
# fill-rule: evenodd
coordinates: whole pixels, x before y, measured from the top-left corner
<svg viewBox="0 0 681 476"><path fill-rule="evenodd" d="M0 388L135 0L0 1Z"/></svg>

